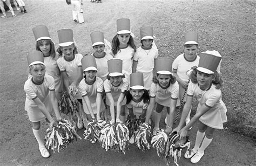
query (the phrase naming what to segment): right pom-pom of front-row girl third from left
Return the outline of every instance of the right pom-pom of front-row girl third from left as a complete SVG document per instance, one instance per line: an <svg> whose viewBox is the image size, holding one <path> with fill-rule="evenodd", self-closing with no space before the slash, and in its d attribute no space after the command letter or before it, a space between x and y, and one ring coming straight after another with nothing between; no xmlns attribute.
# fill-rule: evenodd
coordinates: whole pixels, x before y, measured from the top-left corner
<svg viewBox="0 0 256 166"><path fill-rule="evenodd" d="M124 125L124 123L116 123L116 132L117 132L117 142L118 142L118 151L125 154L127 145L129 144L129 129Z"/></svg>

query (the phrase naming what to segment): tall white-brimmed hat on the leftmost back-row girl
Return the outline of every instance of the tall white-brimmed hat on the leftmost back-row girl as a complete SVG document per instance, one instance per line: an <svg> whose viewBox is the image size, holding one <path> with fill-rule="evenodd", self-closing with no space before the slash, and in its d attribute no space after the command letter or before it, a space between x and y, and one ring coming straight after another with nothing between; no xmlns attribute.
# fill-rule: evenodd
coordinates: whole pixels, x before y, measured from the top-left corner
<svg viewBox="0 0 256 166"><path fill-rule="evenodd" d="M36 27L33 27L32 31L36 41L42 40L42 39L51 39L50 33L48 31L48 27L45 25L38 25Z"/></svg>

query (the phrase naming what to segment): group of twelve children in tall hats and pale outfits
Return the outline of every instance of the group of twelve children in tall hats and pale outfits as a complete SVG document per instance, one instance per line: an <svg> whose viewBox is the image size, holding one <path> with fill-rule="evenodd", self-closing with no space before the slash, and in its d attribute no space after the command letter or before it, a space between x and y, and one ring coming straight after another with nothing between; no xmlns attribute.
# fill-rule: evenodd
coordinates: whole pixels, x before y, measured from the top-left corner
<svg viewBox="0 0 256 166"><path fill-rule="evenodd" d="M43 157L50 154L40 136L40 121L46 119L52 127L52 109L57 121L62 120L57 101L64 91L80 103L78 129L86 127L92 119L125 123L127 114L133 120L150 123L155 110L153 135L156 135L161 113L166 107L165 132L171 134L176 131L182 138L199 120L195 147L192 154L185 154L185 158L192 157L191 162L196 163L204 155L214 129L223 128L222 124L227 120L226 107L221 101L223 80L217 72L220 55L209 51L201 53L199 58L198 34L188 32L185 34L184 53L176 60L158 57L158 49L153 42L153 27L143 26L139 31L142 46L136 49L130 19L118 19L111 52L105 51L104 34L96 31L90 34L95 52L83 57L77 53L71 29L58 30L60 54L57 54L47 27L40 25L33 28L37 51L28 55L30 77L24 85L25 110ZM178 127L173 129L175 110L184 91L187 91L184 110ZM199 105L190 121L193 96ZM68 120L76 125L71 115ZM134 143L134 133L130 143Z"/></svg>

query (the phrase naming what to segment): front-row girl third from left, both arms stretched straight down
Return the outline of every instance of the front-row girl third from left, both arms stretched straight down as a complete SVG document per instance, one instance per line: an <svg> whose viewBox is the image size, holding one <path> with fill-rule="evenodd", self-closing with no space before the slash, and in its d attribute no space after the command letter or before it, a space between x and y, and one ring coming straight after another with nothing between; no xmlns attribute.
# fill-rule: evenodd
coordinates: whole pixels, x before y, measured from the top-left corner
<svg viewBox="0 0 256 166"><path fill-rule="evenodd" d="M109 75L104 81L106 92L106 105L110 108L111 122L125 122L125 93L128 90L129 82L122 73L123 62L120 59L107 61ZM116 108L116 119L114 117Z"/></svg>

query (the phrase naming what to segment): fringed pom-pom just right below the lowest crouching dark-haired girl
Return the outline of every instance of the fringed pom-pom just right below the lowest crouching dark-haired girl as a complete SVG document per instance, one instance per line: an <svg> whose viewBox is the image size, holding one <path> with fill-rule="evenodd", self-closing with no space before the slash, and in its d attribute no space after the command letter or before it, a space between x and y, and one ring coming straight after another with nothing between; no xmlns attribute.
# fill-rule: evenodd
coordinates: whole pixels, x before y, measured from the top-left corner
<svg viewBox="0 0 256 166"><path fill-rule="evenodd" d="M139 126L139 129L135 135L136 146L143 151L150 149L151 136L151 126L148 123L143 123L141 126Z"/></svg>

